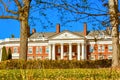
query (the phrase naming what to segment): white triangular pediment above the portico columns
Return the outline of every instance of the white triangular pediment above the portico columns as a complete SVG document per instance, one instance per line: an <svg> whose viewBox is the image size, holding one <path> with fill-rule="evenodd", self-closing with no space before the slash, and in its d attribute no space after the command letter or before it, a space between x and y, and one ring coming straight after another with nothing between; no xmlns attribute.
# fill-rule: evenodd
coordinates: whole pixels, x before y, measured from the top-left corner
<svg viewBox="0 0 120 80"><path fill-rule="evenodd" d="M82 36L69 31L64 31L51 37L51 39L80 39Z"/></svg>

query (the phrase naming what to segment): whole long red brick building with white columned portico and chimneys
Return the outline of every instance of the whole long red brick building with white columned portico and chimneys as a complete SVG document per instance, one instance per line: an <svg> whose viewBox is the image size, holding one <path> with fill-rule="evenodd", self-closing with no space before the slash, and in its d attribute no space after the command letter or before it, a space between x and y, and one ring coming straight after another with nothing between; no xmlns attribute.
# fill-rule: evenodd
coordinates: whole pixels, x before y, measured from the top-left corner
<svg viewBox="0 0 120 80"><path fill-rule="evenodd" d="M27 59L49 60L96 60L112 58L111 31L87 31L84 23L83 32L60 32L60 25L56 25L56 32L38 33L32 30L28 39ZM19 59L19 38L0 40L0 56L2 47L11 49L12 59Z"/></svg>

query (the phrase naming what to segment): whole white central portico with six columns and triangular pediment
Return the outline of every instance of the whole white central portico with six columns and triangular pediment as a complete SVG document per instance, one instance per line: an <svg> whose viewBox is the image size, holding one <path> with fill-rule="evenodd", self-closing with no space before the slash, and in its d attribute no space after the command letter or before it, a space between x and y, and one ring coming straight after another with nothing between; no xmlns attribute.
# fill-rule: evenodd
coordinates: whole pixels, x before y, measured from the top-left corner
<svg viewBox="0 0 120 80"><path fill-rule="evenodd" d="M86 40L78 34L64 31L49 38L50 60L85 60Z"/></svg>

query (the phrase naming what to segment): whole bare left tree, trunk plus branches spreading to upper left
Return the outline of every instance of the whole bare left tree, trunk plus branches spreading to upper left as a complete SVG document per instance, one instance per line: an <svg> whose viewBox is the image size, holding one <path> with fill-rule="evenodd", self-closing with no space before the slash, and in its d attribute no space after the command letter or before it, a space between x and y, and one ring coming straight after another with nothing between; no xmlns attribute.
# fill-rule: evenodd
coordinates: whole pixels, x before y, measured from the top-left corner
<svg viewBox="0 0 120 80"><path fill-rule="evenodd" d="M11 2L11 3L10 3ZM0 0L5 13L0 14L0 19L15 19L20 22L20 59L27 60L27 44L28 44L28 17L31 0ZM9 5L15 4L10 9Z"/></svg>

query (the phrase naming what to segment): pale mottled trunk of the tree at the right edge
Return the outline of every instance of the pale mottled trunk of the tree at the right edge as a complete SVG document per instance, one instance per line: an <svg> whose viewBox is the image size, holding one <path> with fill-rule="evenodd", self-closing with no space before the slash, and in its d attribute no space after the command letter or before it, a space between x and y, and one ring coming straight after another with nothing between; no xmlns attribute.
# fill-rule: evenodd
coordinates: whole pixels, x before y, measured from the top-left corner
<svg viewBox="0 0 120 80"><path fill-rule="evenodd" d="M120 67L118 0L109 0L109 13L112 26L112 67Z"/></svg>

